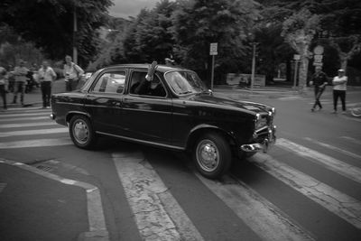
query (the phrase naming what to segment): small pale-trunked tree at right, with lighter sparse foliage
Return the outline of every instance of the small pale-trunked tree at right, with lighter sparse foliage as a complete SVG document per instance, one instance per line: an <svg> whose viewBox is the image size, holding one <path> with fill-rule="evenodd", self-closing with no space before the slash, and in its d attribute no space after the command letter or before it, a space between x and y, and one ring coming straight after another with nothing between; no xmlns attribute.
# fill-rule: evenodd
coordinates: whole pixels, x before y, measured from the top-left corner
<svg viewBox="0 0 361 241"><path fill-rule="evenodd" d="M301 70L299 75L299 91L306 88L309 59L311 57L310 44L319 30L319 16L311 14L308 9L301 9L284 21L282 36L292 48L301 55Z"/></svg>

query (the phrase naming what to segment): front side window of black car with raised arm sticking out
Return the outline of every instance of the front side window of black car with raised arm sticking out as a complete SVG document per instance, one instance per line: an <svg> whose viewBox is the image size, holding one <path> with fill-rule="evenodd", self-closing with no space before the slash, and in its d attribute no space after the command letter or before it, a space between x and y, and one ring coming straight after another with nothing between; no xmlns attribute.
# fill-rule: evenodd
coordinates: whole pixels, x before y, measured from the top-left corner
<svg viewBox="0 0 361 241"><path fill-rule="evenodd" d="M154 75L152 81L147 81L145 75L146 72L141 71L134 71L132 73L129 93L150 97L165 97L167 94L161 79Z"/></svg>

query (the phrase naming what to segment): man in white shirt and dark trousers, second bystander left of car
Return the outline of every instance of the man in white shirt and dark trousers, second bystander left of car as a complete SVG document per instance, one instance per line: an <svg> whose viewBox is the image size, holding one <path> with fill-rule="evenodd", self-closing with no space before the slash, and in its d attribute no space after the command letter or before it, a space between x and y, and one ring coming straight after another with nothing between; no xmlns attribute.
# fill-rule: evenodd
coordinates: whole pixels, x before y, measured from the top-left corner
<svg viewBox="0 0 361 241"><path fill-rule="evenodd" d="M51 85L52 81L56 79L56 73L49 66L49 62L42 61L42 68L38 71L39 80L42 88L42 108L51 107Z"/></svg>

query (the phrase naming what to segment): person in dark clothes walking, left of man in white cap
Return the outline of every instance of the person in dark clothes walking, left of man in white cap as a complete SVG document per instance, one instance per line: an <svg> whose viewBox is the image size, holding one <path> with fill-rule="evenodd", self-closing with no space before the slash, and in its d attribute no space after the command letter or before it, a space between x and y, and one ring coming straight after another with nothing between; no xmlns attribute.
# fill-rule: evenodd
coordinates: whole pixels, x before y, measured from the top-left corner
<svg viewBox="0 0 361 241"><path fill-rule="evenodd" d="M329 83L329 79L327 75L322 71L320 66L316 67L315 73L312 75L312 79L310 81L310 85L314 86L315 91L315 104L310 109L312 112L315 111L316 107L319 106L319 110L322 109L322 105L319 101L323 91Z"/></svg>

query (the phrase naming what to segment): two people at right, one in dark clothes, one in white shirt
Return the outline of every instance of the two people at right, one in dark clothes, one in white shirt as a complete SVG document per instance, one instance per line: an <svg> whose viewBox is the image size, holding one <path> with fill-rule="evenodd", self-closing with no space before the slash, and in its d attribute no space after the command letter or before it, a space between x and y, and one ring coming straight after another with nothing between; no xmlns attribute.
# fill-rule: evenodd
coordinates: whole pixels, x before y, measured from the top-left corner
<svg viewBox="0 0 361 241"><path fill-rule="evenodd" d="M317 66L315 73L312 75L310 80L310 85L314 86L315 92L315 103L311 108L311 111L315 111L316 107L322 109L322 105L319 101L323 91L326 86L329 84L329 78L322 71L320 66ZM342 113L346 114L346 90L347 90L347 76L345 75L345 70L338 70L338 75L332 79L332 95L333 95L333 111L332 113L338 113L338 98L341 99L342 104Z"/></svg>

